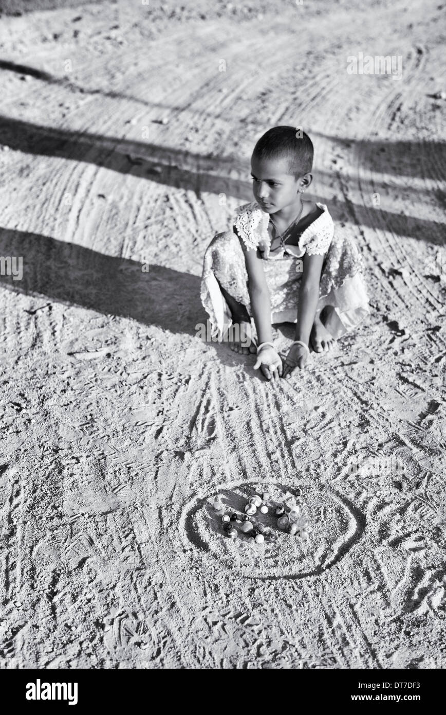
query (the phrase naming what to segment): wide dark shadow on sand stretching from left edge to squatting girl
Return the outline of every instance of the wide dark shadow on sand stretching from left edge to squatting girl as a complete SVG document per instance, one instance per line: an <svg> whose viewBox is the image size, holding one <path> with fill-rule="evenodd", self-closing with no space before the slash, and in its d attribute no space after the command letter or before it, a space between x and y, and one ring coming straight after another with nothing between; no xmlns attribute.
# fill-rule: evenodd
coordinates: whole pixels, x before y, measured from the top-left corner
<svg viewBox="0 0 446 715"><path fill-rule="evenodd" d="M142 272L137 261L5 228L0 228L0 256L23 260L21 280L0 275L1 287L9 290L188 335L206 320L200 278L189 273L159 265Z"/></svg>

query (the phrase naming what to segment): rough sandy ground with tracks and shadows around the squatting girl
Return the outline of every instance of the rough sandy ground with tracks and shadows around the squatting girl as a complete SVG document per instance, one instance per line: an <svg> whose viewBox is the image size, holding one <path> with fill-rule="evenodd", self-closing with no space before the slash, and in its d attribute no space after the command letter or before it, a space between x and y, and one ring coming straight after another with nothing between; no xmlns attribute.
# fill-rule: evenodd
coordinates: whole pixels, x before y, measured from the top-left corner
<svg viewBox="0 0 446 715"><path fill-rule="evenodd" d="M445 668L440 8L3 16L2 667ZM402 79L347 74L360 51ZM274 388L195 326L276 124L311 135L372 315ZM297 487L307 543L222 536L217 495Z"/></svg>

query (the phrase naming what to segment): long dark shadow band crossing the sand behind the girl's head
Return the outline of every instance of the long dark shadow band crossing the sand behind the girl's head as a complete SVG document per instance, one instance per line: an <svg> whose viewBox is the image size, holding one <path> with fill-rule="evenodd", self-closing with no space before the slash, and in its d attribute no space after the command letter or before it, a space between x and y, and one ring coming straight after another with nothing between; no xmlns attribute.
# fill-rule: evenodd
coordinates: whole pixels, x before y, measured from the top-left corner
<svg viewBox="0 0 446 715"><path fill-rule="evenodd" d="M79 162L89 162L99 167L106 167L123 174L144 177L151 181L177 189L192 190L198 197L202 192L226 194L237 197L242 202L252 201L252 184L249 181L249 162L244 157L227 155L214 157L212 154L194 154L182 149L159 147L156 144L134 142L127 139L101 137L88 132L66 132L61 129L49 129L19 119L0 117L1 142L11 149L28 153L42 154L51 157L61 157ZM347 141L347 140L346 140ZM341 140L340 140L341 142ZM341 142L342 143L342 142ZM347 142L352 144L352 142ZM362 147L364 142L357 142L358 151L365 157L365 162L371 164L375 172L388 173L389 159L382 149L395 152L398 155L410 155L410 167L414 166L417 152L422 153L419 144L410 142L369 142L367 152ZM422 161L423 170L435 169L437 176L439 167L446 164L445 144L432 142L430 152L437 157L434 164ZM368 157L368 158L367 158ZM381 157L381 158L380 158ZM443 157L443 158L442 158ZM444 161L444 164L441 162ZM443 169L441 169L443 170ZM423 176L428 174L423 173ZM410 236L419 240L429 240L442 245L444 225L435 221L416 217L394 214L381 207L373 208L355 204L349 200L332 200L333 174L317 172L317 181L321 187L322 198L319 201L329 204L330 213L335 221L353 221L357 225L365 225L381 230L391 230L395 235ZM362 181L363 194L370 197L376 192L385 192L385 186L380 186L379 179L374 182ZM420 200L420 192L413 189L414 201ZM210 240L210 237L209 237Z"/></svg>

